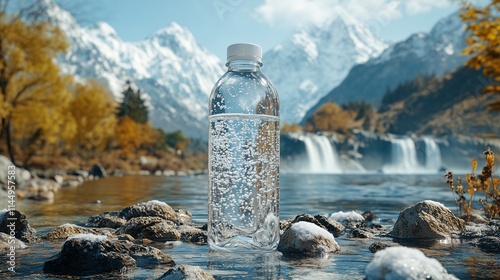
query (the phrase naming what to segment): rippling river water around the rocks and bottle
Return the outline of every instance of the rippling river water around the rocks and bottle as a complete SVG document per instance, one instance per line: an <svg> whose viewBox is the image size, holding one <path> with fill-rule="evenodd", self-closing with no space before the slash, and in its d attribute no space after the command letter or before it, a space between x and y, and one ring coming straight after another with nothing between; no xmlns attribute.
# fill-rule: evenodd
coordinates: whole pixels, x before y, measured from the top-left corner
<svg viewBox="0 0 500 280"><path fill-rule="evenodd" d="M207 221L206 176L194 177L113 177L85 182L77 188L60 190L53 203L19 201L31 226L45 232L64 223L83 225L90 215L118 211L138 202L164 201L173 208L193 214L193 222ZM336 211L370 210L381 224L392 226L399 213L422 200L439 201L455 211L453 195L440 174L282 174L280 183L281 219L301 213L330 215ZM217 279L363 279L373 258L368 247L374 239L336 238L341 253L328 259L290 260L274 254L220 254L206 245L155 244L177 264L198 265ZM382 239L390 241L390 239ZM18 276L52 279L42 272L43 262L56 254L61 242L30 244L19 252ZM405 244L419 247L438 259L448 272L460 279L494 279L500 275L500 260L481 252L468 241L434 244ZM5 261L0 267L5 271ZM154 279L167 268L136 269L124 278ZM1 277L1 275L0 275Z"/></svg>

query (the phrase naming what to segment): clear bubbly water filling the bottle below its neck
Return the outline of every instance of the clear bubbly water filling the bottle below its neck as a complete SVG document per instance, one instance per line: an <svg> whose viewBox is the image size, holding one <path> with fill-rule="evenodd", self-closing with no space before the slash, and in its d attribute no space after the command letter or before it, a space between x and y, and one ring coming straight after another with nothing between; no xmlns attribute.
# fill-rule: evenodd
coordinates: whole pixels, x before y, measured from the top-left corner
<svg viewBox="0 0 500 280"><path fill-rule="evenodd" d="M279 241L279 117L209 116L209 244L273 250Z"/></svg>

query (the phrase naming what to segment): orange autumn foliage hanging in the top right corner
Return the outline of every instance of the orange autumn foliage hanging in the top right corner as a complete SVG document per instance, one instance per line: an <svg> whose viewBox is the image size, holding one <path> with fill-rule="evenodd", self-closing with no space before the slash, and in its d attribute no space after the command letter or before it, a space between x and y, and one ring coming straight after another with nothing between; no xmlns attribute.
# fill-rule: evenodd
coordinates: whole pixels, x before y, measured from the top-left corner
<svg viewBox="0 0 500 280"><path fill-rule="evenodd" d="M469 1L462 1L460 17L470 32L463 54L470 55L467 65L483 69L491 82L484 88L485 93L500 94L500 0L491 0L484 7ZM490 104L490 109L500 110L500 100Z"/></svg>

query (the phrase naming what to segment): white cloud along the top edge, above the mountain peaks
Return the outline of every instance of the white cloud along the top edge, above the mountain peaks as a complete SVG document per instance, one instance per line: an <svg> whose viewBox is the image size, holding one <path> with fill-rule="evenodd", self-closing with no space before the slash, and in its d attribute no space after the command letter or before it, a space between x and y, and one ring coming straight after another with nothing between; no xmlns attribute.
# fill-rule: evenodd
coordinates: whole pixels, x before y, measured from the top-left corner
<svg viewBox="0 0 500 280"><path fill-rule="evenodd" d="M265 0L256 8L256 16L271 26L296 26L329 20L342 9L362 22L384 25L403 14L449 5L449 0Z"/></svg>

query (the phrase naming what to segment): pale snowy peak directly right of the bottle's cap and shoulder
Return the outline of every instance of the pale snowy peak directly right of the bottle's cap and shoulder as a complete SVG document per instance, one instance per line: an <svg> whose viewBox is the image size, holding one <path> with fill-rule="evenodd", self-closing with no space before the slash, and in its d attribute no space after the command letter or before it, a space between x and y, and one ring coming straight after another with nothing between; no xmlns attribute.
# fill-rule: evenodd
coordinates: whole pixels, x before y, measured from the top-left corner
<svg viewBox="0 0 500 280"><path fill-rule="evenodd" d="M349 70L377 57L387 45L343 11L298 30L264 54L263 72L276 86L281 121L298 123Z"/></svg>

